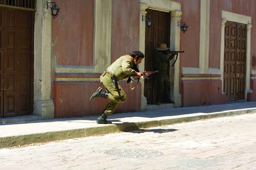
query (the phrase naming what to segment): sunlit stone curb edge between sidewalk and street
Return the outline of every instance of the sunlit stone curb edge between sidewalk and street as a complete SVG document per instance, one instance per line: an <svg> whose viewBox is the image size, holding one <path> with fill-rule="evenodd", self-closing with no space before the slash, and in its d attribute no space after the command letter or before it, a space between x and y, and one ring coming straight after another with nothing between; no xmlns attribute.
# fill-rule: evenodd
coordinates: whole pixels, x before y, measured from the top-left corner
<svg viewBox="0 0 256 170"><path fill-rule="evenodd" d="M143 128L157 127L163 125L172 125L183 122L193 122L203 119L213 119L218 117L238 116L242 114L256 113L256 109L240 109L236 111L224 111L218 113L192 113L187 115L180 115L177 118L152 120L146 122L136 123L120 123L111 125L101 125L97 127L88 127L80 129L71 129L63 131L34 133L20 136L7 136L0 138L0 148L20 147L26 144L52 142L65 139L74 139L88 136L105 135L108 133L128 132L140 130Z"/></svg>

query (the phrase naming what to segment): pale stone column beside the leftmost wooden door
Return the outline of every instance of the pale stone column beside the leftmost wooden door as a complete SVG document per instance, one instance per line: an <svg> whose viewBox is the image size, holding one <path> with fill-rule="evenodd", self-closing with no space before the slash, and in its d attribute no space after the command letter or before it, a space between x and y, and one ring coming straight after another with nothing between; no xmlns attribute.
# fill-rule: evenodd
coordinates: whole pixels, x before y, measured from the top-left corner
<svg viewBox="0 0 256 170"><path fill-rule="evenodd" d="M54 117L54 104L50 99L52 16L46 0L37 1L36 6L33 114L49 119Z"/></svg>

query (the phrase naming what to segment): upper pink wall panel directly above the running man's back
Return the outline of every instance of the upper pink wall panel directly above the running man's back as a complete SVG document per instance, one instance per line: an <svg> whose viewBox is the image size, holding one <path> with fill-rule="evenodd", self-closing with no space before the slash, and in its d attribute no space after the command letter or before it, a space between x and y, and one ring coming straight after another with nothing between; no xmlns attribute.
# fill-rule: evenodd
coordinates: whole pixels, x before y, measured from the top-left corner
<svg viewBox="0 0 256 170"><path fill-rule="evenodd" d="M139 50L140 0L112 0L111 63Z"/></svg>

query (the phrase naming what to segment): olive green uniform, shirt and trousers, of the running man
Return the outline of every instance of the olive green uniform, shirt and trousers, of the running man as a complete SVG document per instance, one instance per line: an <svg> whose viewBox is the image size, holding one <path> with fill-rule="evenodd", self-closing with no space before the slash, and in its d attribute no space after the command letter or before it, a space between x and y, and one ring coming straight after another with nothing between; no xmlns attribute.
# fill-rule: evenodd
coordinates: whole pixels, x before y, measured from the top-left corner
<svg viewBox="0 0 256 170"><path fill-rule="evenodd" d="M108 99L110 102L103 111L107 115L112 114L119 103L126 101L126 94L118 81L128 78L129 76L137 75L136 71L132 69L133 65L133 57L130 55L119 57L119 59L113 62L100 77L101 83L109 93Z"/></svg>

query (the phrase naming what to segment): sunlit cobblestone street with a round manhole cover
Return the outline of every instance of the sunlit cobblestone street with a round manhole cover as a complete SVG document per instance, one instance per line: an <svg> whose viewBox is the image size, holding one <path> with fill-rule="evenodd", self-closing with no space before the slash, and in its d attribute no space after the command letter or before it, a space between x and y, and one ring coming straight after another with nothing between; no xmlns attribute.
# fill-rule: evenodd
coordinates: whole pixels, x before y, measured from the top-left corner
<svg viewBox="0 0 256 170"><path fill-rule="evenodd" d="M255 170L256 113L1 149L3 170Z"/></svg>

